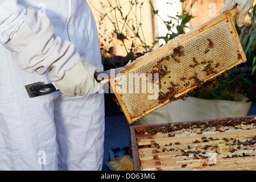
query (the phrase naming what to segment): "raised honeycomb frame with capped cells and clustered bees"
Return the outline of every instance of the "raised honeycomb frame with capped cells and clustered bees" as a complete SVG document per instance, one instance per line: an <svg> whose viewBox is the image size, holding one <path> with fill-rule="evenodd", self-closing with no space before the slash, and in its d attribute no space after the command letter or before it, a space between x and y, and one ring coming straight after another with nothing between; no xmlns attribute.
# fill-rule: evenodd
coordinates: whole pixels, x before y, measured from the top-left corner
<svg viewBox="0 0 256 182"><path fill-rule="evenodd" d="M237 32L232 18L225 17L203 33L199 26L139 57L137 64L147 57L150 60L110 81L129 123L197 89L208 88L225 76L226 70L241 63L243 51ZM185 39L196 31L200 33ZM154 56L155 52L162 53Z"/></svg>

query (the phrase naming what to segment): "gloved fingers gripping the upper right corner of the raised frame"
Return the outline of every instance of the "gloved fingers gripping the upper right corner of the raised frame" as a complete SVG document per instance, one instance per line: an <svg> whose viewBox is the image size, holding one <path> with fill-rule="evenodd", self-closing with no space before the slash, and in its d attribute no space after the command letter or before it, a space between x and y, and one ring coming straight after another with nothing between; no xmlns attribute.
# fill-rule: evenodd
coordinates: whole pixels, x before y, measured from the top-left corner
<svg viewBox="0 0 256 182"><path fill-rule="evenodd" d="M233 9L233 7L237 5L238 13L236 17L236 22L238 27L242 27L246 14L253 6L253 1L254 0L225 0L225 7L220 10L220 14Z"/></svg>

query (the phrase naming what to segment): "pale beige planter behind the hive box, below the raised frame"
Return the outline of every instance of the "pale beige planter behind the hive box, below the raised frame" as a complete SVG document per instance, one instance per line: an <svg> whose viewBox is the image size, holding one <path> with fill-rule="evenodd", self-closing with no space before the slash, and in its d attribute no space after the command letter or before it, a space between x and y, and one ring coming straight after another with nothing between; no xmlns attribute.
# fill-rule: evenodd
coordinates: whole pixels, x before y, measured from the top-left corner
<svg viewBox="0 0 256 182"><path fill-rule="evenodd" d="M172 123L197 121L202 119L217 119L246 116L252 102L241 96L241 101L205 100L188 97L187 100L177 100L150 113L134 125L151 125L157 123Z"/></svg>

